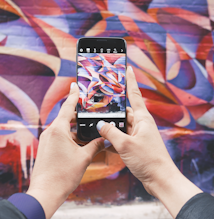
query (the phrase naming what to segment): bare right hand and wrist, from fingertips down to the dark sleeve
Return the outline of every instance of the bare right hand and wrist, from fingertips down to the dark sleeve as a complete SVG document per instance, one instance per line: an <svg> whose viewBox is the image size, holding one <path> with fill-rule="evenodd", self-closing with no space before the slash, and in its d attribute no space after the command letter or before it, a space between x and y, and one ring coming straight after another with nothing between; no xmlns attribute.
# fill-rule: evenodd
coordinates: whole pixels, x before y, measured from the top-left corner
<svg viewBox="0 0 214 219"><path fill-rule="evenodd" d="M127 90L133 109L127 110L127 121L132 124L128 126L128 134L104 121L97 124L97 129L106 139L105 145L114 146L147 192L158 198L175 218L182 206L202 191L184 177L172 161L144 104L131 67L127 70Z"/></svg>

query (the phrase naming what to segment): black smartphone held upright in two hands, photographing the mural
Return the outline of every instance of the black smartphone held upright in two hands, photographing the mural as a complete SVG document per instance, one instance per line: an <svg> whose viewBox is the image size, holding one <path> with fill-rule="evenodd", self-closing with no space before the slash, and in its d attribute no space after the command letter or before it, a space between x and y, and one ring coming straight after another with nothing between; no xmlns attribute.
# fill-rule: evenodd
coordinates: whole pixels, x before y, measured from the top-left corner
<svg viewBox="0 0 214 219"><path fill-rule="evenodd" d="M81 141L100 137L96 129L100 120L126 133L126 63L124 39L79 39L77 135Z"/></svg>

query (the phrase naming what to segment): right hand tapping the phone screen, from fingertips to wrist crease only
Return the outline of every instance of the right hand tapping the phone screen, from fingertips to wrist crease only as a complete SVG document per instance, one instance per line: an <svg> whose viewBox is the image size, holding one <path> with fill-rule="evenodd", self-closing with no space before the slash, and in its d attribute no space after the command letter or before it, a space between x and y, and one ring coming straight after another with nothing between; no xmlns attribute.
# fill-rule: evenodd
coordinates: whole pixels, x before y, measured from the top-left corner
<svg viewBox="0 0 214 219"><path fill-rule="evenodd" d="M135 75L130 67L127 69L127 89L133 109L133 115L131 112L127 113L127 120L132 117L132 131L128 130L129 135L127 135L104 122L99 122L98 129L100 129L100 135L112 143L129 170L151 194L150 185L156 180L158 169L165 163L173 164L173 161L166 150L154 119L144 104Z"/></svg>

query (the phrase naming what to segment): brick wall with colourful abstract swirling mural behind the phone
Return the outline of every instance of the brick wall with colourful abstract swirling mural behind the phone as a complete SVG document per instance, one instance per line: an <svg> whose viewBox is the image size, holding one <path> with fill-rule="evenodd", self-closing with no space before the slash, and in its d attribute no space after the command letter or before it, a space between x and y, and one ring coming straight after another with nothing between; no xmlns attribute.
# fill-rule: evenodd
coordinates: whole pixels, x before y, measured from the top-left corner
<svg viewBox="0 0 214 219"><path fill-rule="evenodd" d="M214 1L0 0L0 196L26 191L38 139L76 80L76 42L123 37L128 64L178 168L214 191ZM75 128L75 124L72 124ZM102 152L70 200L151 200Z"/></svg>

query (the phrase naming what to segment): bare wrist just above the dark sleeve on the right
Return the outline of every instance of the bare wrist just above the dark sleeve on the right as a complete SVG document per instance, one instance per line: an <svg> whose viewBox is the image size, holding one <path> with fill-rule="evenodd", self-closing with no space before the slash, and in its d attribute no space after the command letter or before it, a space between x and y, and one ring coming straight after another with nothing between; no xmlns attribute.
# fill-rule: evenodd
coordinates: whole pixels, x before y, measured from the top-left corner
<svg viewBox="0 0 214 219"><path fill-rule="evenodd" d="M178 170L173 161L158 169L148 190L165 205L173 218L189 199L202 192Z"/></svg>

